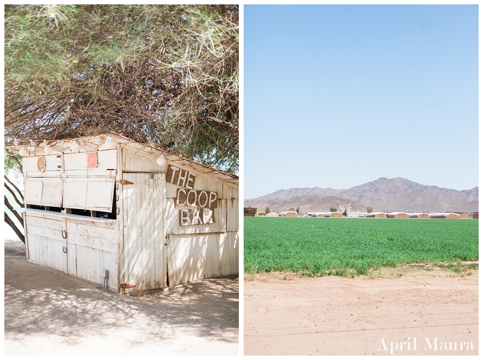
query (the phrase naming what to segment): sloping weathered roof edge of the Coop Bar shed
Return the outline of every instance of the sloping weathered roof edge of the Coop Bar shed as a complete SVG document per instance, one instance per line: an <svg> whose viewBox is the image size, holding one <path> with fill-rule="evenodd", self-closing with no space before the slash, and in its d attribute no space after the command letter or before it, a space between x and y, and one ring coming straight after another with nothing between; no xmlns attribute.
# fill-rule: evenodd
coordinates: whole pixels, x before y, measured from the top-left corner
<svg viewBox="0 0 483 360"><path fill-rule="evenodd" d="M50 146L60 152L70 152L70 143L73 140L79 141L81 148L86 151L102 150L102 145L104 144L106 138L111 136L114 141L116 141L121 148L127 152L139 156L139 157L159 157L164 155L169 161L177 163L179 165L190 167L199 172L205 173L219 180L220 182L229 183L234 188L238 188L238 176L233 175L229 172L224 172L213 166L205 165L202 162L190 158L183 157L182 155L170 154L165 150L161 150L154 145L143 144L134 140L131 140L123 135L116 133L105 133L102 135L95 136L84 136L75 139L62 139L59 141L48 141ZM26 147L29 150L30 156L45 155L43 152L43 147L39 146L39 141L36 141L37 145L28 143L6 146L11 153L18 154L22 147Z"/></svg>

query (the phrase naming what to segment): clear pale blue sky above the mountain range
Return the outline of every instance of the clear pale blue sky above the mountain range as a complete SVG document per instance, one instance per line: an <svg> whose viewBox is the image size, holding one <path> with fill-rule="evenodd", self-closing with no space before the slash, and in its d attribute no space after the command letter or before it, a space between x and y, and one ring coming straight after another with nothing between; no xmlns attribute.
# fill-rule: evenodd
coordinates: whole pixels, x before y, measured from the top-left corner
<svg viewBox="0 0 483 360"><path fill-rule="evenodd" d="M478 6L245 5L244 198L478 186Z"/></svg>

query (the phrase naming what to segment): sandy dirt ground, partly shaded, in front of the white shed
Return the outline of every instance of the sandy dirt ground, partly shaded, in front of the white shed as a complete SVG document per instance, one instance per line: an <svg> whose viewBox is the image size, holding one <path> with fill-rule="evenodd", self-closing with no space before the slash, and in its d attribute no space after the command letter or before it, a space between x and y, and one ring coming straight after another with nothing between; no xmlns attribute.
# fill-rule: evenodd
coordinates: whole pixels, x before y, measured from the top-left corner
<svg viewBox="0 0 483 360"><path fill-rule="evenodd" d="M27 262L5 240L5 355L238 355L238 278L143 297Z"/></svg>

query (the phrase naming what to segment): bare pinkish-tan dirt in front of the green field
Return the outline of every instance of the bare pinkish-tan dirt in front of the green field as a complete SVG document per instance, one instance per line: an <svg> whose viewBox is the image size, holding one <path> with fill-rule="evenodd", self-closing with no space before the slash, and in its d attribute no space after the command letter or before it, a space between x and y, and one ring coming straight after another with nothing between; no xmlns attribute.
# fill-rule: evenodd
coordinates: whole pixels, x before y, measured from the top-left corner
<svg viewBox="0 0 483 360"><path fill-rule="evenodd" d="M478 355L478 276L301 278L244 288L245 355Z"/></svg>

